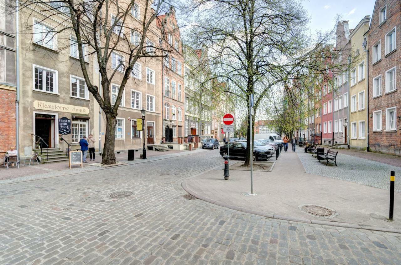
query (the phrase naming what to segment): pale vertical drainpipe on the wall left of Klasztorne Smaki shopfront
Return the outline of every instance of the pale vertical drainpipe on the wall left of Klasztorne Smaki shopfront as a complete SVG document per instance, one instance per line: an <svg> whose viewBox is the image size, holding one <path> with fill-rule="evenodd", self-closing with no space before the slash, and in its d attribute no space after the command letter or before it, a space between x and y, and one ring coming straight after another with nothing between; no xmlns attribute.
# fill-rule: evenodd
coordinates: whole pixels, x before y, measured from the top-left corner
<svg viewBox="0 0 401 265"><path fill-rule="evenodd" d="M16 15L15 15L15 28L16 28L16 34L15 34L15 53L16 53L16 101L15 101L15 128L16 128L16 149L18 152L18 155L20 155L20 122L19 122L19 116L20 116L20 52L19 52L19 7L18 7L18 0L15 1L15 6L16 6Z"/></svg>

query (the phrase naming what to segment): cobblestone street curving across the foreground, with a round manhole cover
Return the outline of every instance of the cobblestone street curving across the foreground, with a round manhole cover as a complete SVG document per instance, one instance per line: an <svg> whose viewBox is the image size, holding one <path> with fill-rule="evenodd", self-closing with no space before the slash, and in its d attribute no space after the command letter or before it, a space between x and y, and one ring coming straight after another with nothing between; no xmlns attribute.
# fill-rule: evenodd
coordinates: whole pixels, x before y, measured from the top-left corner
<svg viewBox="0 0 401 265"><path fill-rule="evenodd" d="M401 235L186 200L218 151L1 186L0 264L401 264ZM130 191L112 199L111 193Z"/></svg>

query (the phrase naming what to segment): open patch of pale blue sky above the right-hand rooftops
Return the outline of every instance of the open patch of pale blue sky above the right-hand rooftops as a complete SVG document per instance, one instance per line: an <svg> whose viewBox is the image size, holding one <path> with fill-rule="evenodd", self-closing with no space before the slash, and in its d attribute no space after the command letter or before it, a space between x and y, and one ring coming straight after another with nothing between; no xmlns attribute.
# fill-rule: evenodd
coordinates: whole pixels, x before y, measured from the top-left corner
<svg viewBox="0 0 401 265"><path fill-rule="evenodd" d="M366 15L372 16L375 0L303 0L302 4L310 16L310 29L316 32L332 30L337 14L355 28Z"/></svg>

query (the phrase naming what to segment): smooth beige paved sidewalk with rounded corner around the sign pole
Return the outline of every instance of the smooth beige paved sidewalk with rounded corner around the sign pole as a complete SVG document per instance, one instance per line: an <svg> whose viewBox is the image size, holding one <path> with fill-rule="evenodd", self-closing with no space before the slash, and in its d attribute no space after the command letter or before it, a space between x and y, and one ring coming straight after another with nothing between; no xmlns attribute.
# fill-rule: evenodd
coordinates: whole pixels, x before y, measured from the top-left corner
<svg viewBox="0 0 401 265"><path fill-rule="evenodd" d="M298 153L298 152L297 152ZM297 153L282 153L272 172L254 172L253 189L256 196L245 196L250 192L249 171L230 171L230 179L224 181L223 167L192 179L184 186L196 195L216 201L219 205L230 205L232 209L246 209L265 213L276 218L290 217L319 221L351 223L401 229L401 196L395 195L395 221L388 217L389 191L349 181L308 174ZM306 154L305 154L306 155ZM315 160L310 155L305 159ZM313 161L312 160L312 161ZM231 163L236 161L231 161ZM313 161L318 163L317 161ZM243 163L239 161L239 163ZM376 162L375 162L376 163ZM324 168L324 164L319 165ZM340 169L340 167L326 167ZM305 204L321 205L334 209L338 215L322 218L300 211Z"/></svg>

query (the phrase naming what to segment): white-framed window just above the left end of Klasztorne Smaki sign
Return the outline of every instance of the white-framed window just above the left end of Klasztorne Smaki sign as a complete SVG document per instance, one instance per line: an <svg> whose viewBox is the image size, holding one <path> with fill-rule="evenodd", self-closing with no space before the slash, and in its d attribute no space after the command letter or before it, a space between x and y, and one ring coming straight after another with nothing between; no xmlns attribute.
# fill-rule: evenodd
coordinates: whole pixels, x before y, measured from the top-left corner
<svg viewBox="0 0 401 265"><path fill-rule="evenodd" d="M57 71L34 65L34 90L57 93Z"/></svg>

